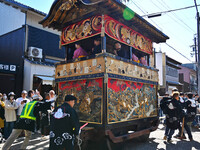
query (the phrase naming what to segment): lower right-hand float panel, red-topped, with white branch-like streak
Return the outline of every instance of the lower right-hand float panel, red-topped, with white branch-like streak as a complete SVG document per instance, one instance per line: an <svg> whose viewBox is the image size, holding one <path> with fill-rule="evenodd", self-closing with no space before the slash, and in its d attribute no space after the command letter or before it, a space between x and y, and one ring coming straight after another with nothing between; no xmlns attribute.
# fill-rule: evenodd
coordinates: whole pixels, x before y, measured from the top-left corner
<svg viewBox="0 0 200 150"><path fill-rule="evenodd" d="M108 123L157 115L156 85L108 79Z"/></svg>

